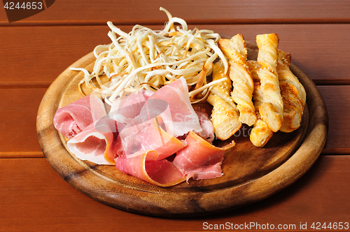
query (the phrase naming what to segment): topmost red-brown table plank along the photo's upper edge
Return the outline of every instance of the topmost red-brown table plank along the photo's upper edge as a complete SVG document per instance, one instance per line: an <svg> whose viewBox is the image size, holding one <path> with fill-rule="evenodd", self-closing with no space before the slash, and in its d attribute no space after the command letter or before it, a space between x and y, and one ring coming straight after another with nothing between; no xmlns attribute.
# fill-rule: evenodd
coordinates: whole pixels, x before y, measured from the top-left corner
<svg viewBox="0 0 350 232"><path fill-rule="evenodd" d="M47 10L14 25L23 24L163 24L166 8L174 17L192 24L261 24L349 22L349 1L69 1L60 0ZM1 12L2 11L2 12ZM5 10L0 24L7 25Z"/></svg>

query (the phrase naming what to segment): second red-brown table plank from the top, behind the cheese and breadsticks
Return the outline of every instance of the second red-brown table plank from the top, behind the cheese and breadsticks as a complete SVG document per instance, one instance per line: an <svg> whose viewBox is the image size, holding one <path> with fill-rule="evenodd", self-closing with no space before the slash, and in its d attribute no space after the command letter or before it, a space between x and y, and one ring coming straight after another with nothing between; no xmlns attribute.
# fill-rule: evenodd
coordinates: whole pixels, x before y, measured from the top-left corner
<svg viewBox="0 0 350 232"><path fill-rule="evenodd" d="M286 25L190 25L219 34L243 34L255 41L257 34L279 34L279 48L290 52L292 61L316 84L350 84L347 68L350 44L349 24ZM151 26L162 29L162 26ZM132 26L120 27L129 32ZM35 31L35 33L33 33ZM96 45L111 43L109 27L0 27L0 87L48 87L74 61ZM18 36L22 35L22 36ZM317 43L315 43L317 41ZM322 48L322 49L320 49Z"/></svg>

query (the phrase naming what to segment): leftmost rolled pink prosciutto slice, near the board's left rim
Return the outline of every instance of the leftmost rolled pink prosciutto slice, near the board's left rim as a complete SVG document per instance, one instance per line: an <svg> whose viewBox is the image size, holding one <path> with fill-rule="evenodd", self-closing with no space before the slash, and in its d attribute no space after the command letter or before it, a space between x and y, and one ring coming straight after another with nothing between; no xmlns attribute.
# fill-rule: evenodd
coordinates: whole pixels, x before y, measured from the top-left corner
<svg viewBox="0 0 350 232"><path fill-rule="evenodd" d="M73 138L92 122L106 116L106 109L101 99L87 95L73 103L59 108L53 119L57 131L67 138Z"/></svg>

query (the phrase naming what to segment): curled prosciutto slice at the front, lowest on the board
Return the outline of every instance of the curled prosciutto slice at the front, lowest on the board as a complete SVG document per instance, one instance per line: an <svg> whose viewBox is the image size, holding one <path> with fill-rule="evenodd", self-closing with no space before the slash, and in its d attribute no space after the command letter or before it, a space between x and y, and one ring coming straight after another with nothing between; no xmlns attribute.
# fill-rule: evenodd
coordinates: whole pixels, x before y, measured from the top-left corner
<svg viewBox="0 0 350 232"><path fill-rule="evenodd" d="M132 157L118 157L116 167L125 174L162 187L169 187L186 180L186 176L167 159L156 161L158 152L140 151Z"/></svg>

